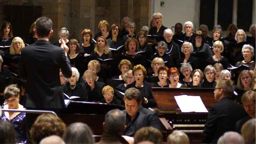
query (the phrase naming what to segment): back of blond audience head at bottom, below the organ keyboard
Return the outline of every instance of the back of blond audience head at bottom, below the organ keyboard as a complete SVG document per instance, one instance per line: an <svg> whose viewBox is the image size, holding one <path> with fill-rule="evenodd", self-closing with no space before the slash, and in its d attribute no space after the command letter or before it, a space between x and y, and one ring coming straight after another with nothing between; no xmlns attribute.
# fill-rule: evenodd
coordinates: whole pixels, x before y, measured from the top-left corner
<svg viewBox="0 0 256 144"><path fill-rule="evenodd" d="M189 138L186 133L174 130L171 134L169 134L167 138L168 144L189 144Z"/></svg>

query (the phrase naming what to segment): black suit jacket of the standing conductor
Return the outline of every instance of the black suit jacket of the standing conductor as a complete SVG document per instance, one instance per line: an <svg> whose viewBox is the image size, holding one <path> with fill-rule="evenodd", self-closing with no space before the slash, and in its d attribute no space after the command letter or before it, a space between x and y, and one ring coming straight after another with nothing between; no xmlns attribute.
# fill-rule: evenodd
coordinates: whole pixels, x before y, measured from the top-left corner
<svg viewBox="0 0 256 144"><path fill-rule="evenodd" d="M65 107L59 70L70 78L71 66L62 48L45 40L21 50L20 77L27 80L26 108L61 109Z"/></svg>

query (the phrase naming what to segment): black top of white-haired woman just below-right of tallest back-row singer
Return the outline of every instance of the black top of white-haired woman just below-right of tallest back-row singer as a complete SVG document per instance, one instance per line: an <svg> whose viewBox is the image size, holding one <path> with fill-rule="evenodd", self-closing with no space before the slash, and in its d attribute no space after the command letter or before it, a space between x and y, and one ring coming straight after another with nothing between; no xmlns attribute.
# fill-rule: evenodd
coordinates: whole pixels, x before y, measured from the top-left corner
<svg viewBox="0 0 256 144"><path fill-rule="evenodd" d="M168 51L166 54L172 56L173 63L175 64L177 60L181 58L181 49L179 45L177 45L174 41L167 43L166 40L164 41L168 45Z"/></svg>

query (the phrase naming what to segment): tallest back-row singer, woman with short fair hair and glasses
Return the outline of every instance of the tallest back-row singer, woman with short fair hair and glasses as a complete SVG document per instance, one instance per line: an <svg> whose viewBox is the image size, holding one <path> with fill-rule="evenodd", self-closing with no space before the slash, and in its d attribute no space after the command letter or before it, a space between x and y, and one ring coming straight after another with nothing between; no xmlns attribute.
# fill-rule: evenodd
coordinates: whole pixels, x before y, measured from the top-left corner
<svg viewBox="0 0 256 144"><path fill-rule="evenodd" d="M152 27L148 34L163 36L163 31L167 29L167 27L162 25L163 15L161 13L154 13L152 17L156 27Z"/></svg>

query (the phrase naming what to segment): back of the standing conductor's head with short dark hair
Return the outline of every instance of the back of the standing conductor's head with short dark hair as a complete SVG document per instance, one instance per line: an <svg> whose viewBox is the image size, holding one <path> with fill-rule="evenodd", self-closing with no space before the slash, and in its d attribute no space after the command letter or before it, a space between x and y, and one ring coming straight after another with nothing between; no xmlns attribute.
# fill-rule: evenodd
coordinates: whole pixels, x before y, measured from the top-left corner
<svg viewBox="0 0 256 144"><path fill-rule="evenodd" d="M35 27L39 37L47 37L52 30L53 22L48 17L39 17L37 21L35 21Z"/></svg>

